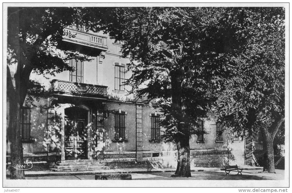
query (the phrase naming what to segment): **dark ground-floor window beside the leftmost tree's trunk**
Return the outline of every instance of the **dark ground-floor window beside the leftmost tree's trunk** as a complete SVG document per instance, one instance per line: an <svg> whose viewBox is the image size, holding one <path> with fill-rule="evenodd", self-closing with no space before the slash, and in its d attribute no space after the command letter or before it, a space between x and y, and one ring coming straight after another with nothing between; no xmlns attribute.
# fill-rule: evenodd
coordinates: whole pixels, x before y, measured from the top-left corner
<svg viewBox="0 0 292 193"><path fill-rule="evenodd" d="M30 108L21 108L21 136L22 140L30 140Z"/></svg>

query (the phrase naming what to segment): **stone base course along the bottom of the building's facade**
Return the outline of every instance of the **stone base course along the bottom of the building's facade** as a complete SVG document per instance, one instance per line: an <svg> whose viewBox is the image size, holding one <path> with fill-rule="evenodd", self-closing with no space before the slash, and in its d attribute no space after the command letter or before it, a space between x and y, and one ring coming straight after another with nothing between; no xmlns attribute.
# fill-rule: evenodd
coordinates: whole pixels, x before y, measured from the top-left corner
<svg viewBox="0 0 292 193"><path fill-rule="evenodd" d="M177 166L177 152L159 153L159 157L152 157L152 153L143 153L142 160L135 158L135 153L100 154L98 159L105 166L114 168L175 168ZM191 167L221 167L233 159L232 151L227 150L191 150ZM25 161L46 162L45 168L53 166L61 159L58 154L50 154L49 160L44 154L25 156ZM47 162L48 161L48 162ZM7 157L7 163L10 157ZM41 164L41 163L40 163ZM36 168L36 170L38 170ZM40 169L41 170L41 169Z"/></svg>

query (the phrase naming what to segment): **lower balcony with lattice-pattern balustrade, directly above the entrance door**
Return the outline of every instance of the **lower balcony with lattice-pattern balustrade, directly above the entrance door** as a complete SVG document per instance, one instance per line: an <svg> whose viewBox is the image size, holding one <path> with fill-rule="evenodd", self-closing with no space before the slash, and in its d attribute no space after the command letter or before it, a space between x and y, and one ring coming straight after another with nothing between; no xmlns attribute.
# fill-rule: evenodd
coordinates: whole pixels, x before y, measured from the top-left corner
<svg viewBox="0 0 292 193"><path fill-rule="evenodd" d="M86 99L107 99L107 86L69 82L63 80L51 81L51 94L61 97Z"/></svg>

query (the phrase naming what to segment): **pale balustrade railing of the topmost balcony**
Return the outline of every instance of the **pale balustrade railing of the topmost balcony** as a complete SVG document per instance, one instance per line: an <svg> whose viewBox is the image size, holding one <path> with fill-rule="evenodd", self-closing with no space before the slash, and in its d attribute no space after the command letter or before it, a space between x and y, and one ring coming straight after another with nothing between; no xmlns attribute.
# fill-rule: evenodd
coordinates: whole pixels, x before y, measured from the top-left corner
<svg viewBox="0 0 292 193"><path fill-rule="evenodd" d="M74 28L76 27L65 27L63 29L64 41L107 50L107 37L86 32L83 28Z"/></svg>

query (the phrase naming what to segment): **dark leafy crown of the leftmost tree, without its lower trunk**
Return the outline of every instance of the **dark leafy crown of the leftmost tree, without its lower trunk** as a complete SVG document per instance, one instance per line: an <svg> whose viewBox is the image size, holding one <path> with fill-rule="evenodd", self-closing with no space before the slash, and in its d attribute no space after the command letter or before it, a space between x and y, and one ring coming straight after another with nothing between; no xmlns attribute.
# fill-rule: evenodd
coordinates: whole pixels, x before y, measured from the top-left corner
<svg viewBox="0 0 292 193"><path fill-rule="evenodd" d="M8 67L16 64L15 81L19 81L22 103L27 90L39 88L29 80L31 72L50 74L72 70L67 64L77 54L57 52L63 39L63 29L74 24L78 8L11 7L8 8ZM74 36L74 35L72 35ZM88 60L86 57L81 60ZM17 85L17 84L16 84ZM35 94L35 93L34 93Z"/></svg>

